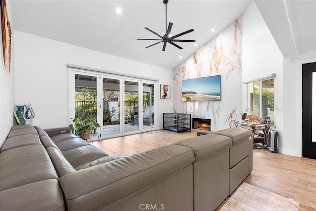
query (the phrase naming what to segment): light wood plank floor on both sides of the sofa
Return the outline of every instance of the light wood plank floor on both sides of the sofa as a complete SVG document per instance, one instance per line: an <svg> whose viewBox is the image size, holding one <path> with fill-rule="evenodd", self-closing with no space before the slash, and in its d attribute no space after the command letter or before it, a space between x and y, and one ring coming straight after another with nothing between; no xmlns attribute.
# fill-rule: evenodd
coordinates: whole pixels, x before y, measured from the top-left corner
<svg viewBox="0 0 316 211"><path fill-rule="evenodd" d="M158 130L94 141L108 154L134 154L196 136L196 131ZM253 171L245 182L295 199L300 211L316 211L316 160L253 150ZM269 203L269 202L267 202Z"/></svg>

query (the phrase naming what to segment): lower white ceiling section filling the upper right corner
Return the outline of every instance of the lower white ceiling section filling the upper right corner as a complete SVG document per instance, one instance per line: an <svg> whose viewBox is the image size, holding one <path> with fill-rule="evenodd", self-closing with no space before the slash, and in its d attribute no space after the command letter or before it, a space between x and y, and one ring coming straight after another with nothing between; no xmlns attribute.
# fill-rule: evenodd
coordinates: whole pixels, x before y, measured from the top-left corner
<svg viewBox="0 0 316 211"><path fill-rule="evenodd" d="M316 0L255 3L284 57L316 50Z"/></svg>

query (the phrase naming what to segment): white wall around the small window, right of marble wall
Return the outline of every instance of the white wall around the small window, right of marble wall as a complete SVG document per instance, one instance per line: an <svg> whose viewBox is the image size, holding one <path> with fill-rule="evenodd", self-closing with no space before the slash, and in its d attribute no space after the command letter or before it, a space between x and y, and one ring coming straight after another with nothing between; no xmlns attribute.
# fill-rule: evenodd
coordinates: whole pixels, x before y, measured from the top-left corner
<svg viewBox="0 0 316 211"><path fill-rule="evenodd" d="M243 17L242 34L242 81L255 80L276 73L274 79L275 127L279 132L279 151L288 152L289 140L284 139L283 111L283 55L264 22L257 6L250 2ZM243 85L243 108L249 108L247 85ZM284 148L286 147L286 148Z"/></svg>

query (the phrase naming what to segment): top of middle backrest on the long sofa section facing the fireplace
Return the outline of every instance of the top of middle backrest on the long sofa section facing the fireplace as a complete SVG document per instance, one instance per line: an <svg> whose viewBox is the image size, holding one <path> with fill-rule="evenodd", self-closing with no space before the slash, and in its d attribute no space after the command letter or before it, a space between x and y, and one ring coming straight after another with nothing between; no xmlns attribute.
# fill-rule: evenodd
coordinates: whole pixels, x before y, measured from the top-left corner
<svg viewBox="0 0 316 211"><path fill-rule="evenodd" d="M224 149L228 149L232 145L232 141L226 136L207 134L181 140L175 144L192 149L197 162Z"/></svg>

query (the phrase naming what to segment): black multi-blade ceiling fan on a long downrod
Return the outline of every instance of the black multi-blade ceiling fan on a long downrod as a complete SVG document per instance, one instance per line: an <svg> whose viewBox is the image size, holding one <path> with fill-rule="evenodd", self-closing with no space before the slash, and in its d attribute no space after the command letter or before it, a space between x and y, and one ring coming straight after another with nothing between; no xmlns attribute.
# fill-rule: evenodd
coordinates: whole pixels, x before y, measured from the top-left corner
<svg viewBox="0 0 316 211"><path fill-rule="evenodd" d="M158 33L154 32L153 30L145 27L145 29L147 29L148 31L154 33L155 35L157 35L160 39L143 39L143 38L137 38L137 40L153 40L153 41L159 41L155 44L152 44L152 45L149 45L147 46L146 48L149 48L151 46L154 46L156 44L159 44L161 42L164 42L163 43L163 47L162 47L162 51L164 51L166 49L166 45L167 45L167 42L172 44L173 46L179 48L180 50L182 49L182 47L180 47L179 45L175 44L174 42L196 42L195 40L179 40L179 39L175 39L177 37L180 37L182 35L185 35L185 34L188 34L190 32L193 32L194 30L193 29L189 29L188 31L185 31L185 32L182 32L180 34L177 34L177 35L174 35L174 36L171 36L171 29L172 29L172 25L173 23L169 22L169 25L168 25L168 28L167 28L167 3L168 3L169 0L163 0L163 3L166 5L166 34L164 36L161 36L159 35Z"/></svg>

